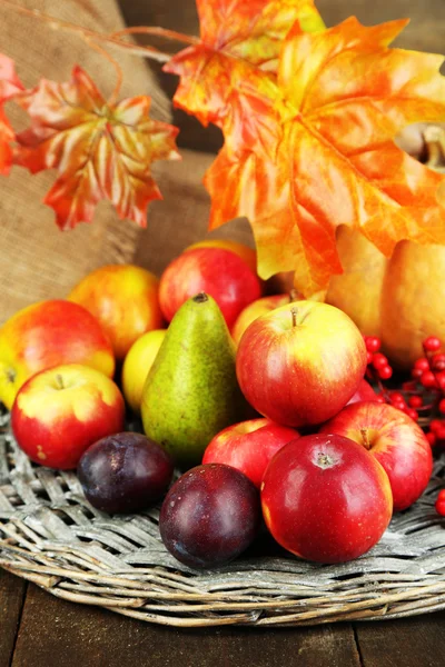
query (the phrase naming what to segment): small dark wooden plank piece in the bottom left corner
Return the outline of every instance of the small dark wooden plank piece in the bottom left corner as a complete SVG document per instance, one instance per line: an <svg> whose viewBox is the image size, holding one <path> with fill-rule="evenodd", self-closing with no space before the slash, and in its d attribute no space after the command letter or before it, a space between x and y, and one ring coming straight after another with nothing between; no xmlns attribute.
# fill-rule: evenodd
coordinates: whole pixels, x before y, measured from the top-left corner
<svg viewBox="0 0 445 667"><path fill-rule="evenodd" d="M27 584L0 569L0 667L9 667Z"/></svg>

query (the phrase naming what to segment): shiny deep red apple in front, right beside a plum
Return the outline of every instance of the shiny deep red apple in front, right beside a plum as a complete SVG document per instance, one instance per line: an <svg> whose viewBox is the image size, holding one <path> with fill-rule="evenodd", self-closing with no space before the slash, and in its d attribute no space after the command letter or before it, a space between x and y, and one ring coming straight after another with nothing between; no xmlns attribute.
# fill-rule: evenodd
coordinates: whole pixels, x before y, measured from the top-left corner
<svg viewBox="0 0 445 667"><path fill-rule="evenodd" d="M342 436L304 436L283 447L261 484L273 537L307 560L346 563L366 554L393 510L389 480L357 442Z"/></svg>

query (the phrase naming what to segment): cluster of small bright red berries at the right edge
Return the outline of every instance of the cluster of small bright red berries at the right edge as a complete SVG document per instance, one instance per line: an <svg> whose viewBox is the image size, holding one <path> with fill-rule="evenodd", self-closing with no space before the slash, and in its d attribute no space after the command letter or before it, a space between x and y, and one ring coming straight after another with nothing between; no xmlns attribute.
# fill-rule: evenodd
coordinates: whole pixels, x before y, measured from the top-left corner
<svg viewBox="0 0 445 667"><path fill-rule="evenodd" d="M378 400L406 412L418 421L432 447L445 447L445 352L442 341L429 336L423 342L424 356L413 366L412 380L402 385L402 391L388 390L382 382L393 376L385 355L380 354L380 340L365 336L368 367L366 377L379 389ZM439 491L436 511L445 516L445 489Z"/></svg>

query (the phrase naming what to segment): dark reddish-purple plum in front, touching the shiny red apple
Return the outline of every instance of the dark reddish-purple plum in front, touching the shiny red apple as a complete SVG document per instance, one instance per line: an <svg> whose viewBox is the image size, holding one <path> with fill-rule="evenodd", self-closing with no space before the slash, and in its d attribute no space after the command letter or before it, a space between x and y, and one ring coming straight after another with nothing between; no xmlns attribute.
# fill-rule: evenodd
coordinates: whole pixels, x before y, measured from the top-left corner
<svg viewBox="0 0 445 667"><path fill-rule="evenodd" d="M180 477L164 500L160 535L194 568L217 567L241 554L261 522L259 494L236 468L207 464Z"/></svg>

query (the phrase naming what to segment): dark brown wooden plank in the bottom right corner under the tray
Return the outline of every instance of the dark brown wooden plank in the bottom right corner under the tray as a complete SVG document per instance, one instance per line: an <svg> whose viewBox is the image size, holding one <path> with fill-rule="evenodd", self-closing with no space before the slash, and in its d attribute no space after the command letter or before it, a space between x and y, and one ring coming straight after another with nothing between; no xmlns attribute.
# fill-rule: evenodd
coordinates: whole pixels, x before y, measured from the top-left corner
<svg viewBox="0 0 445 667"><path fill-rule="evenodd" d="M364 667L443 667L445 611L355 624Z"/></svg>

